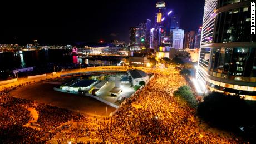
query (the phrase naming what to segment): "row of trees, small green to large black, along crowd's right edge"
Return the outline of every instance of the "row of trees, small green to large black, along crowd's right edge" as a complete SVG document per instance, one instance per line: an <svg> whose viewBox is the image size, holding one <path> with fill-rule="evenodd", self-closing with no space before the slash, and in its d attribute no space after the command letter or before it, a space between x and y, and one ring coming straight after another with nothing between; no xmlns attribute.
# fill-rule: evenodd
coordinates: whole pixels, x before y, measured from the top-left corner
<svg viewBox="0 0 256 144"><path fill-rule="evenodd" d="M180 105L196 108L197 115L209 125L228 130L256 143L256 102L238 95L212 92L197 101L189 86L174 92Z"/></svg>

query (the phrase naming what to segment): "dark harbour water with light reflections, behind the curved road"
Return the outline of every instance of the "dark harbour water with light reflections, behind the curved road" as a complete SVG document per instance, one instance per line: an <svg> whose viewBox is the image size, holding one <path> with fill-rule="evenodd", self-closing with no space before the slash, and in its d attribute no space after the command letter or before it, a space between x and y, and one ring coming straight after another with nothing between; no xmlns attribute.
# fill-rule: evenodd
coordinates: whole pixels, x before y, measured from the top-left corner
<svg viewBox="0 0 256 144"><path fill-rule="evenodd" d="M0 53L0 71L24 67L48 68L50 65L58 64L89 64L93 65L116 65L120 62L117 59L83 59L78 56L70 56L70 51L61 49L48 49L38 51L23 51L19 53L3 52Z"/></svg>

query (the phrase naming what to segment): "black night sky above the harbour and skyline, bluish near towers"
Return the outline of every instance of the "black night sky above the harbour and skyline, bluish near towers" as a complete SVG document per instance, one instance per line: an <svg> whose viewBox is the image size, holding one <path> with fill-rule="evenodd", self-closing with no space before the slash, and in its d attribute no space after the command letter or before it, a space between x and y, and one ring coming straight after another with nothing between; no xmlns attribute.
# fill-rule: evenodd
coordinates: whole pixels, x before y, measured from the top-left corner
<svg viewBox="0 0 256 144"><path fill-rule="evenodd" d="M154 20L154 0L8 1L0 2L0 43L81 44L129 42L129 28ZM166 0L166 9L181 18L181 28L197 30L203 21L204 0ZM151 25L154 25L152 21Z"/></svg>

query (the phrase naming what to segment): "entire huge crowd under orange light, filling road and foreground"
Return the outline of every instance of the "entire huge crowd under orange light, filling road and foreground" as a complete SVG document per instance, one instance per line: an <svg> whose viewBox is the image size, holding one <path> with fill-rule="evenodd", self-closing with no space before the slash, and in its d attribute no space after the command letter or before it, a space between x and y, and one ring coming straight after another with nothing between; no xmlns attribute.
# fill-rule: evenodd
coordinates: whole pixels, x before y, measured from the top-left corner
<svg viewBox="0 0 256 144"><path fill-rule="evenodd" d="M80 113L49 106L35 101L14 98L1 92L0 98L0 143L79 142L81 137L100 139L103 143L238 143L233 137L223 137L204 130L198 125L195 110L180 105L173 96L185 79L174 68L157 70L155 76L127 98L116 114L110 118L89 118ZM140 107L136 107L136 106ZM38 127L42 130L22 127L29 120L26 107L35 107L39 112ZM71 122L70 122L71 121ZM65 123L87 122L97 128L66 127ZM17 132L18 131L18 132ZM4 136L9 137L3 138ZM43 139L42 139L43 137ZM3 138L3 139L2 139Z"/></svg>

